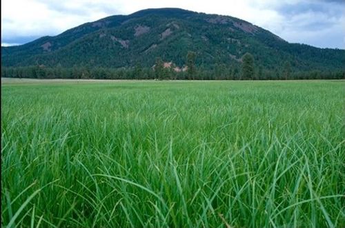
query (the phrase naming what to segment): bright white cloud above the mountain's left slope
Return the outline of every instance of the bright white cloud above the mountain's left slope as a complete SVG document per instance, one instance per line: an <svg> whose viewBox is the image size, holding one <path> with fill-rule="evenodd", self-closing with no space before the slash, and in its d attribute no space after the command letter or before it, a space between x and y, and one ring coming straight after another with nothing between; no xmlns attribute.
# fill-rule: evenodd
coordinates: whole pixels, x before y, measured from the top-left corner
<svg viewBox="0 0 345 228"><path fill-rule="evenodd" d="M1 41L13 37L56 35L81 23L108 16L82 2L63 5L57 1L1 1Z"/></svg>

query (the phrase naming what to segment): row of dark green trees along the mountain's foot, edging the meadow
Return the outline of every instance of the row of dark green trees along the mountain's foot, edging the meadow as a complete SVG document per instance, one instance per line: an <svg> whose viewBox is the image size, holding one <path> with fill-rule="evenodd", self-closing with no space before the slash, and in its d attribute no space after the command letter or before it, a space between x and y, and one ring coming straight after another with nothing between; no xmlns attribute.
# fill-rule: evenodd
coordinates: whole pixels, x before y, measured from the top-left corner
<svg viewBox="0 0 345 228"><path fill-rule="evenodd" d="M158 79L158 80L295 80L295 79L345 79L345 71L310 70L293 72L290 63L275 70L264 69L255 65L251 54L242 56L241 64L215 64L213 68L196 66L197 53L188 52L186 70L177 71L172 64L164 66L164 61L157 58L152 68L144 68L138 63L131 68L88 68L74 66L63 68L61 65L51 68L44 65L25 67L2 67L1 77L19 79Z"/></svg>

